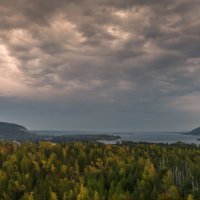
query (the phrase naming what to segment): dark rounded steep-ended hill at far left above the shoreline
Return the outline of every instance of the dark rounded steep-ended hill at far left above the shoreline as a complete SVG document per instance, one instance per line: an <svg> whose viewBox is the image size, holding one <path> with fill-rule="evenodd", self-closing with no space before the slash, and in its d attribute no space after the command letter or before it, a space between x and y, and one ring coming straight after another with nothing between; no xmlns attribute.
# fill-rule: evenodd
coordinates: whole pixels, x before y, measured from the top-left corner
<svg viewBox="0 0 200 200"><path fill-rule="evenodd" d="M29 134L26 127L18 124L0 122L0 138L25 136Z"/></svg>

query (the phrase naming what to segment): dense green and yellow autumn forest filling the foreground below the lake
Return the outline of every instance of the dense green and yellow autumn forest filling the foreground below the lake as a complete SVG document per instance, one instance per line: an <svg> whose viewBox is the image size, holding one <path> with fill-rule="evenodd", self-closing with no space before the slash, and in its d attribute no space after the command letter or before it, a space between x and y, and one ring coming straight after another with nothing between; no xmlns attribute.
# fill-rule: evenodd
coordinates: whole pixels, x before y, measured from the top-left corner
<svg viewBox="0 0 200 200"><path fill-rule="evenodd" d="M195 145L0 143L0 199L200 199Z"/></svg>

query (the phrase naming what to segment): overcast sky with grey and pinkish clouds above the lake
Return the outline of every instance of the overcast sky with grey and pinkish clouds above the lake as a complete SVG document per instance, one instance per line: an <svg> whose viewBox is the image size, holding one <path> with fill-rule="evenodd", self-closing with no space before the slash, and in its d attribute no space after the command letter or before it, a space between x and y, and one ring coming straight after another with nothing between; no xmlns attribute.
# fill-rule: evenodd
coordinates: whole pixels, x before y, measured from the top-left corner
<svg viewBox="0 0 200 200"><path fill-rule="evenodd" d="M199 0L0 0L0 121L200 126Z"/></svg>

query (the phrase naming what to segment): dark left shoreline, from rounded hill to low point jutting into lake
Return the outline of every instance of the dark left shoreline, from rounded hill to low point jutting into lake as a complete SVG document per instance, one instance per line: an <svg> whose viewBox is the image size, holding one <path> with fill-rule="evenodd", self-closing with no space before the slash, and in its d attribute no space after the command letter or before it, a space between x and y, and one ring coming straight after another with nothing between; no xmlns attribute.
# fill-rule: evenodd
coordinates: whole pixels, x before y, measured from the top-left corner
<svg viewBox="0 0 200 200"><path fill-rule="evenodd" d="M51 141L51 142L75 142L117 140L120 136L109 134L89 134L88 132L70 131L29 131L18 124L0 122L0 140L2 141Z"/></svg>

